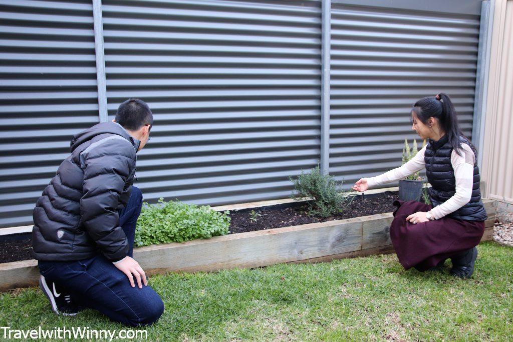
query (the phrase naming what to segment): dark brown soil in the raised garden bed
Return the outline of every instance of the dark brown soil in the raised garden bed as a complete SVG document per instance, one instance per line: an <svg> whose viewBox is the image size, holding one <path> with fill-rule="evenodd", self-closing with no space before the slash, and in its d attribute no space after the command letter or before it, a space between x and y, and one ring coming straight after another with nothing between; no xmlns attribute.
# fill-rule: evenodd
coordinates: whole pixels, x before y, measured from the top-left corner
<svg viewBox="0 0 513 342"><path fill-rule="evenodd" d="M343 208L342 212L324 218L308 216L308 205L305 203L233 210L230 212L230 234L389 213L396 210L392 205L395 199L398 199L397 192L390 191L356 196L347 207ZM257 213L256 221L250 219L252 210ZM0 264L32 259L31 251L30 233L3 237L0 240Z"/></svg>

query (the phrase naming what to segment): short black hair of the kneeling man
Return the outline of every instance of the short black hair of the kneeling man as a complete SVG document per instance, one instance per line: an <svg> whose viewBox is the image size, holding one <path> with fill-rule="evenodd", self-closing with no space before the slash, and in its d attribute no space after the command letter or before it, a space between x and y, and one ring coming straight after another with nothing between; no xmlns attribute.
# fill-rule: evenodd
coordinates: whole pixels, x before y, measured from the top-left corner
<svg viewBox="0 0 513 342"><path fill-rule="evenodd" d="M117 108L116 123L136 131L145 125L153 126L153 114L146 102L139 98L129 98Z"/></svg>

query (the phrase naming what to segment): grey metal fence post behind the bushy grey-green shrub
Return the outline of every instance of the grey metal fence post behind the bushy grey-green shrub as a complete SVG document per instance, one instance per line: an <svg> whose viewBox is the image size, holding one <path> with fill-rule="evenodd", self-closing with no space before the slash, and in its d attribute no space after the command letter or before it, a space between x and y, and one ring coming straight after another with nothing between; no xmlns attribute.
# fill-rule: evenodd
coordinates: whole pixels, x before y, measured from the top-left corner
<svg viewBox="0 0 513 342"><path fill-rule="evenodd" d="M329 173L329 93L331 63L331 0L322 0L321 39L321 173Z"/></svg>

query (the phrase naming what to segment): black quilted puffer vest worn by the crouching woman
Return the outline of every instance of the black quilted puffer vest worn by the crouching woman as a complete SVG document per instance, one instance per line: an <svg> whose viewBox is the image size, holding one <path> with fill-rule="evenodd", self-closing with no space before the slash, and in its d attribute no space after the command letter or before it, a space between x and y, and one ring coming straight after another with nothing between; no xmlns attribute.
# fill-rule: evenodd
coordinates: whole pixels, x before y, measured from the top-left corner
<svg viewBox="0 0 513 342"><path fill-rule="evenodd" d="M460 136L462 144L470 146L477 160L476 149L463 136ZM426 163L426 175L428 182L431 184L429 188L429 198L433 207L439 206L446 202L456 193L456 178L454 169L452 168L450 159L452 154L452 146L449 144L447 136L443 136L437 142L429 140L426 146L424 161ZM450 218L467 220L467 221L484 221L486 220L486 211L481 200L481 190L479 189L479 167L474 164L474 177L472 186L472 197L470 202L460 209L448 215Z"/></svg>

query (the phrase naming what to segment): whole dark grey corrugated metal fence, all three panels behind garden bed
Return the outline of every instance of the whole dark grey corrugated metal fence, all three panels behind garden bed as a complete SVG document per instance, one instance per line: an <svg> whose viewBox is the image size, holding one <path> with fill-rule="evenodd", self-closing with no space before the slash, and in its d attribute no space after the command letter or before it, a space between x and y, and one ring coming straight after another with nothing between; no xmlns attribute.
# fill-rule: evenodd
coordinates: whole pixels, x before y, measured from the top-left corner
<svg viewBox="0 0 513 342"><path fill-rule="evenodd" d="M436 3L332 2L338 179L399 165L420 97L451 94L470 134L480 4ZM109 119L128 97L154 113L137 162L148 202L284 198L288 176L323 158L320 1L104 0L102 15ZM0 227L11 227L31 224L71 136L98 122L98 92L90 0L4 1L0 17Z"/></svg>

